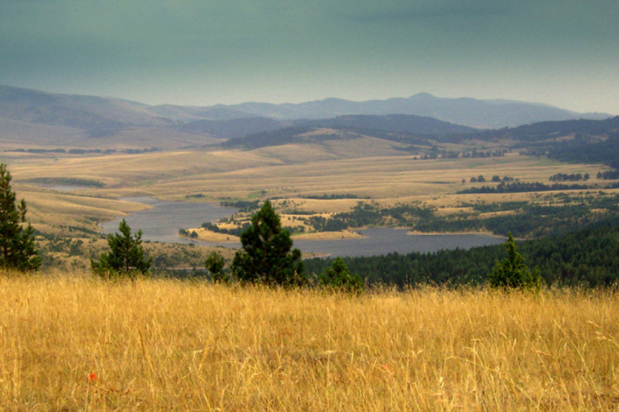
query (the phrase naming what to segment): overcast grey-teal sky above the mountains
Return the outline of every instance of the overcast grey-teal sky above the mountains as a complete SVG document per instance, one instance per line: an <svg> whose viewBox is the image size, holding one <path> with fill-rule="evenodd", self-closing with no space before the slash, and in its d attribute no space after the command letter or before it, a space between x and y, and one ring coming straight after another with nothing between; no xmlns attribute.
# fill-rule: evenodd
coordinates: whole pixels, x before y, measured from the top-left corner
<svg viewBox="0 0 619 412"><path fill-rule="evenodd" d="M444 98L619 114L616 0L0 0L0 84L146 104Z"/></svg>

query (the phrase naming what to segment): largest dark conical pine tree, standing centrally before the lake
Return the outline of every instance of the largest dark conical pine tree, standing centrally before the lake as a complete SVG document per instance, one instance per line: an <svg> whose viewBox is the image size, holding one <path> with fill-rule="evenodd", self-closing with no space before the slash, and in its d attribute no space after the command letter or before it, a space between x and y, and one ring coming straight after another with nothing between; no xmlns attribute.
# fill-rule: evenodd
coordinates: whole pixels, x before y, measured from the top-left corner
<svg viewBox="0 0 619 412"><path fill-rule="evenodd" d="M232 261L232 273L242 282L284 286L305 283L301 251L292 249L290 233L281 229L269 201L241 233L241 246Z"/></svg>

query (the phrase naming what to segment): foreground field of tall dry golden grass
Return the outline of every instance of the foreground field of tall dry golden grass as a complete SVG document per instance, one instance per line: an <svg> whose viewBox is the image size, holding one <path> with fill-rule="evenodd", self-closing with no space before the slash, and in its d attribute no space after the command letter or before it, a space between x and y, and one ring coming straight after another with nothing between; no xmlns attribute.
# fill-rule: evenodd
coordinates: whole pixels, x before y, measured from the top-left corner
<svg viewBox="0 0 619 412"><path fill-rule="evenodd" d="M7 410L619 408L619 299L0 277ZM94 374L94 375L91 375Z"/></svg>

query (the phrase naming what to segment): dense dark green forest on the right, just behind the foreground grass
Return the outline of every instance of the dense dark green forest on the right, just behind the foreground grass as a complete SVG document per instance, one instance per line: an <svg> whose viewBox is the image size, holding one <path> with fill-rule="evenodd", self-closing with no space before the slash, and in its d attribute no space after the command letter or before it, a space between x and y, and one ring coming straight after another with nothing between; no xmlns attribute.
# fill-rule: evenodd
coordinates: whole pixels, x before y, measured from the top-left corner
<svg viewBox="0 0 619 412"><path fill-rule="evenodd" d="M560 236L517 242L529 268L538 267L550 286L611 286L619 282L619 218L611 218ZM495 263L506 257L501 244L436 253L389 253L343 258L350 273L369 285L460 286L484 284ZM305 260L305 271L318 277L334 258Z"/></svg>

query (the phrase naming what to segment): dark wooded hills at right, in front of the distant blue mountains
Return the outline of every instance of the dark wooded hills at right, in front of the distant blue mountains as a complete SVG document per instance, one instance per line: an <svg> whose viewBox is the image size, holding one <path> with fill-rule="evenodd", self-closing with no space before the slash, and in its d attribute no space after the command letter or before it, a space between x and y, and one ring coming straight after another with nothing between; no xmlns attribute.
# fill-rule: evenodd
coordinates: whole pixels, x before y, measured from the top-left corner
<svg viewBox="0 0 619 412"><path fill-rule="evenodd" d="M501 156L508 150L580 163L605 163L619 168L619 116L603 120L541 122L517 128L475 130L411 115L347 115L304 120L277 130L229 139L222 147L252 150L286 144L325 144L371 137L400 154L438 157ZM400 144L397 148L394 143ZM352 143L359 144L358 142ZM479 151L479 148L484 148ZM488 150L492 148L492 150Z"/></svg>

